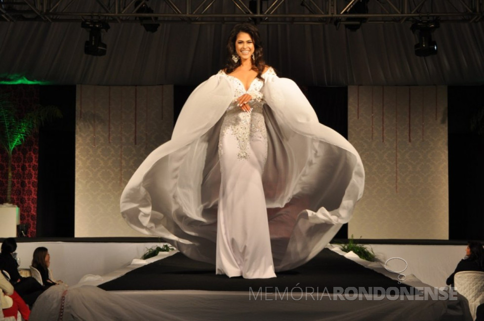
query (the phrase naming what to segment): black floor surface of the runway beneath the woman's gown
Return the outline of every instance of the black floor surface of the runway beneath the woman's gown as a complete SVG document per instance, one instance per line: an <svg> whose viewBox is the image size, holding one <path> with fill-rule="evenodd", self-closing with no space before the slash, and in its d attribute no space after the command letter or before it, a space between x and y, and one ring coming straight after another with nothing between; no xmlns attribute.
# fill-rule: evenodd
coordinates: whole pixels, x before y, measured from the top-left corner
<svg viewBox="0 0 484 321"><path fill-rule="evenodd" d="M282 292L287 287L300 287L303 291L333 293L335 287L406 287L380 273L367 269L350 259L325 248L306 264L285 272L277 273L272 279L228 278L215 275L215 266L194 261L181 253L150 263L126 273L118 279L99 285L108 291L143 290L209 290L209 291L258 291ZM338 291L338 290L336 290Z"/></svg>

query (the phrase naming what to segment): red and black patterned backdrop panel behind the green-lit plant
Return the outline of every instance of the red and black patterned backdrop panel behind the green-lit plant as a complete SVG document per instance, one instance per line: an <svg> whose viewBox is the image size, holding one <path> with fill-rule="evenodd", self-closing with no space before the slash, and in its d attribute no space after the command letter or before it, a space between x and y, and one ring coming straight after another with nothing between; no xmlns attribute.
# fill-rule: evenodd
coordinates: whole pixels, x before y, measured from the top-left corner
<svg viewBox="0 0 484 321"><path fill-rule="evenodd" d="M8 93L14 106L22 115L39 104L38 85L0 86ZM37 174L39 168L38 134L29 137L16 147L12 154L12 203L20 207L20 224L28 226L27 236L36 236L37 221ZM6 201L7 154L0 151L0 203Z"/></svg>

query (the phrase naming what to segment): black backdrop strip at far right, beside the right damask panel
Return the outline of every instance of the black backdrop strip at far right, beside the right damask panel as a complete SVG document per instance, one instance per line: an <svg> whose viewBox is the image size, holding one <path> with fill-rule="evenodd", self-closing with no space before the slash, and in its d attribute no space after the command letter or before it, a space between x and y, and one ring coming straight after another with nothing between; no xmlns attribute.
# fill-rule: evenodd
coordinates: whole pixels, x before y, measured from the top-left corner
<svg viewBox="0 0 484 321"><path fill-rule="evenodd" d="M449 86L447 93L449 240L484 240L484 132L471 127L484 116L484 86Z"/></svg>

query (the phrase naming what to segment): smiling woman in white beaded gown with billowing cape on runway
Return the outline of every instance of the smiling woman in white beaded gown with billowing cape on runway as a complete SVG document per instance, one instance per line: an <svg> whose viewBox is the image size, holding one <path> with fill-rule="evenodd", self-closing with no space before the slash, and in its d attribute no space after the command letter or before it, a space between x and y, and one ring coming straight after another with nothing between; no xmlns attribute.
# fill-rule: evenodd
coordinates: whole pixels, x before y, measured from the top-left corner
<svg viewBox="0 0 484 321"><path fill-rule="evenodd" d="M254 25L236 25L227 48L225 69L194 90L172 139L133 174L121 213L217 274L272 278L349 221L363 165L297 85L264 64Z"/></svg>

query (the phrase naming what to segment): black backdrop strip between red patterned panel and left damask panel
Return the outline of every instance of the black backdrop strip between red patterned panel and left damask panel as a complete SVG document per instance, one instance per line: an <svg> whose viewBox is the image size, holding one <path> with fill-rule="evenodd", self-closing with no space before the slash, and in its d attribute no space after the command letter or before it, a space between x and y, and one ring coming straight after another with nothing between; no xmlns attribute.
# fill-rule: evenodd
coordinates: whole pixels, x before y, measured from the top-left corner
<svg viewBox="0 0 484 321"><path fill-rule="evenodd" d="M40 86L40 103L62 119L39 131L37 237L74 237L76 86Z"/></svg>

